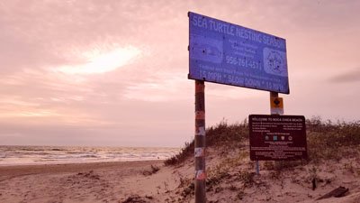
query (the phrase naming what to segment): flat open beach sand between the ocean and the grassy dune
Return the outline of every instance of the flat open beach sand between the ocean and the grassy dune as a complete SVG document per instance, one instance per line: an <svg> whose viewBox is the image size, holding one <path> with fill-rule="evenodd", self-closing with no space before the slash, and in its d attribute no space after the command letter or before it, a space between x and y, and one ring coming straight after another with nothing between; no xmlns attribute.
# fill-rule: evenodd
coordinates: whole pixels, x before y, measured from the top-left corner
<svg viewBox="0 0 360 203"><path fill-rule="evenodd" d="M142 179L161 165L162 161L126 161L2 166L0 202L122 202L142 189L151 190Z"/></svg>

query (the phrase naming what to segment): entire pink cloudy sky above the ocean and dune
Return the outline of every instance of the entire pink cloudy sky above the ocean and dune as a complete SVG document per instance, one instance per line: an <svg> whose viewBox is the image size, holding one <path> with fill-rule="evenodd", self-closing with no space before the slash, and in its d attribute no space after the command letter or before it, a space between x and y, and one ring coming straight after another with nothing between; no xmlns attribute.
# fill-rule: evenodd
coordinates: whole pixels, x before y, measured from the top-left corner
<svg viewBox="0 0 360 203"><path fill-rule="evenodd" d="M360 1L0 1L0 145L181 147L193 139L189 11L286 39L285 115L360 120ZM206 125L269 92L205 83Z"/></svg>

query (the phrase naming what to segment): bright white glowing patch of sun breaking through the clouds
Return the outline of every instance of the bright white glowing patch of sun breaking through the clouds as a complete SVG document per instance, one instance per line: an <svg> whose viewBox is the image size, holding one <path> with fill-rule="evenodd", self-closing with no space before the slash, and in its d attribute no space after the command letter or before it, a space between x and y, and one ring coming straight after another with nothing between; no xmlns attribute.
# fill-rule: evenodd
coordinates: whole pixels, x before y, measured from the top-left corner
<svg viewBox="0 0 360 203"><path fill-rule="evenodd" d="M136 47L117 48L112 51L97 49L83 53L87 62L78 65L62 66L58 70L67 74L96 74L118 69L139 56L141 51Z"/></svg>

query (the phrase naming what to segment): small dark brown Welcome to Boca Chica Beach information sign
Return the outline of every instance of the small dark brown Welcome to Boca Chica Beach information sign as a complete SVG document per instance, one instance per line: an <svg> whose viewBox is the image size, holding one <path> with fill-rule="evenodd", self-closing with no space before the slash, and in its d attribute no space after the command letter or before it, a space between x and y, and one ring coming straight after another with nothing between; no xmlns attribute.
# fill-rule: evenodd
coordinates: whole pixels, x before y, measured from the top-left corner
<svg viewBox="0 0 360 203"><path fill-rule="evenodd" d="M307 159L305 117L302 115L249 115L250 160Z"/></svg>

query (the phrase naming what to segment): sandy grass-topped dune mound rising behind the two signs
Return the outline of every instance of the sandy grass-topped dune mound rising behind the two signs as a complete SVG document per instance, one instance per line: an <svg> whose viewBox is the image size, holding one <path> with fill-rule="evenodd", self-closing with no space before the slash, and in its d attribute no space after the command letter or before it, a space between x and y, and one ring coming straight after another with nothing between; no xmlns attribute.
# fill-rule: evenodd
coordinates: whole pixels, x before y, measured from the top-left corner
<svg viewBox="0 0 360 203"><path fill-rule="evenodd" d="M239 199L306 202L321 198L339 186L356 191L356 198L360 198L360 193L354 190L360 187L354 181L360 178L360 121L332 122L312 117L306 120L306 131L308 160L260 161L261 175L257 176L255 161L249 160L247 120L236 124L223 120L208 127L206 191L211 197L209 202L238 202ZM193 141L185 143L165 165L178 170L193 168L193 145ZM181 177L181 184L175 189L182 196L177 202L193 198L193 176L188 174Z"/></svg>

